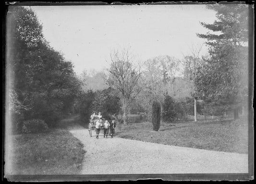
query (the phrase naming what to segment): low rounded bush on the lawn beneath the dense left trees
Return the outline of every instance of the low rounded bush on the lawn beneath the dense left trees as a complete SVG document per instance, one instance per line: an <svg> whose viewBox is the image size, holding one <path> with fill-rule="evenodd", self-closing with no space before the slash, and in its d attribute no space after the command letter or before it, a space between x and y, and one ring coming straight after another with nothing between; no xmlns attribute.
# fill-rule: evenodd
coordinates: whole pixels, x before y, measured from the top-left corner
<svg viewBox="0 0 256 184"><path fill-rule="evenodd" d="M23 133L38 133L48 130L48 125L41 119L25 120L22 126Z"/></svg>

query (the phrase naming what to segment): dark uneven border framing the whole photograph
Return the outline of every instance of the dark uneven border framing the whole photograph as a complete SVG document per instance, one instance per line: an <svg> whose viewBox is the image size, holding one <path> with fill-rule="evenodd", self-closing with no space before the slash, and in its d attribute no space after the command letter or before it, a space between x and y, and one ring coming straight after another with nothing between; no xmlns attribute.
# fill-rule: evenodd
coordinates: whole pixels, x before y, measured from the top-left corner
<svg viewBox="0 0 256 184"><path fill-rule="evenodd" d="M215 4L216 2L203 2L203 4ZM245 3L245 2L222 2L222 3ZM122 2L6 2L5 4L5 17L8 11L9 6L63 6L63 5L127 5L133 3L122 3ZM189 1L180 1L180 2L142 2L136 4L199 4L198 2L189 2ZM202 4L202 3L200 3ZM248 173L200 173L200 174L88 174L88 175L4 175L4 171L2 171L2 178L5 178L7 181L19 181L19 182L53 182L53 181L136 181L139 179L160 179L164 181L249 181L254 179L254 109L253 109L253 94L254 94L254 6L249 4L249 59L248 59L248 75L249 75L249 84L248 84ZM3 68L5 68L6 60L5 60L5 48L4 41L5 39L5 20L2 18L2 36L3 36ZM3 86L6 83L6 78L4 78L4 69L3 71ZM4 88L2 90L4 92ZM5 97L4 93L3 96ZM6 103L6 102L5 102ZM3 109L5 103L3 102ZM4 120L4 110L3 112L3 122ZM2 134L2 170L4 169L4 123L2 124L3 134ZM3 180L3 179L2 179Z"/></svg>

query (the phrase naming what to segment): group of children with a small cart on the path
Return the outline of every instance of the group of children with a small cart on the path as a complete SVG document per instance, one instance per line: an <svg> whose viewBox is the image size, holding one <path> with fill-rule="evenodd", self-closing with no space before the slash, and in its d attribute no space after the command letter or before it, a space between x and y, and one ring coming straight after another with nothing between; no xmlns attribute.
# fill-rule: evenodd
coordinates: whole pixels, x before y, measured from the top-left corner
<svg viewBox="0 0 256 184"><path fill-rule="evenodd" d="M104 138L108 138L109 130L110 130L110 136L113 138L113 134L115 133L115 127L116 123L115 120L108 121L107 119L105 120L104 124L102 125L103 117L101 115L101 112L98 112L98 115L96 115L96 112L93 111L93 114L91 115L91 120L93 122L93 119L97 119L95 123L95 129L96 129L96 139L98 139L98 134L100 131L101 126L104 126Z"/></svg>

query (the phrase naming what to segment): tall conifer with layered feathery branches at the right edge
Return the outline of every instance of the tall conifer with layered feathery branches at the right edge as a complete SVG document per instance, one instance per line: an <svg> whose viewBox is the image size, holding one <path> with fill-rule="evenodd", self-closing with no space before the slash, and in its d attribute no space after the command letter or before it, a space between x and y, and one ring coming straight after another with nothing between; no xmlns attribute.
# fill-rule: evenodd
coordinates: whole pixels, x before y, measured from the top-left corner
<svg viewBox="0 0 256 184"><path fill-rule="evenodd" d="M202 22L211 32L197 34L207 39L211 56L198 67L198 92L204 99L229 106L237 119L238 108L248 94L248 5L219 4L207 8L216 11L217 20L212 24Z"/></svg>

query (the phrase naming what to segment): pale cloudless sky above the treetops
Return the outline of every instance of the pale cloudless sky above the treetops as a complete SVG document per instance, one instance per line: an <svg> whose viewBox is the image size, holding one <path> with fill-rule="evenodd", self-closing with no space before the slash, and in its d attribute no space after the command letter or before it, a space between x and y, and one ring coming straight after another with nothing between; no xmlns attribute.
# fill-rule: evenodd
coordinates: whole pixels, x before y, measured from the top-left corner
<svg viewBox="0 0 256 184"><path fill-rule="evenodd" d="M79 75L101 71L113 49L131 48L138 60L159 55L182 59L205 43L200 22L213 23L205 5L31 6L50 45L71 61ZM203 46L201 53L207 54Z"/></svg>

